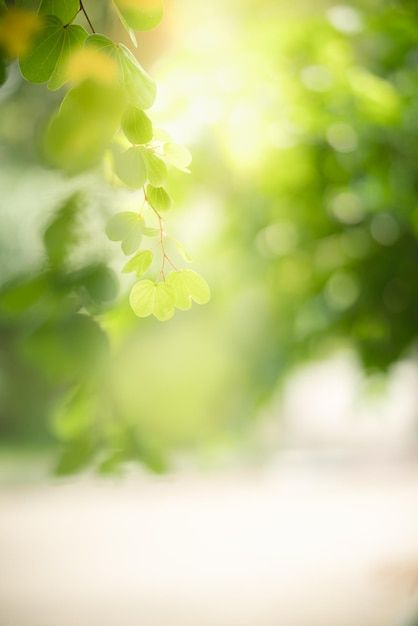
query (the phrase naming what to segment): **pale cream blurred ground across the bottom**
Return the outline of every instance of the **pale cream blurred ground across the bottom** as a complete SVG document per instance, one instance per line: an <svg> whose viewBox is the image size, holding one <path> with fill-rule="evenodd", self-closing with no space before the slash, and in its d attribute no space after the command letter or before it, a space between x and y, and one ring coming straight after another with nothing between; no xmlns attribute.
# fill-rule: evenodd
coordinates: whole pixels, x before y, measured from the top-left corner
<svg viewBox="0 0 418 626"><path fill-rule="evenodd" d="M398 626L415 557L411 464L4 486L0 626Z"/></svg>

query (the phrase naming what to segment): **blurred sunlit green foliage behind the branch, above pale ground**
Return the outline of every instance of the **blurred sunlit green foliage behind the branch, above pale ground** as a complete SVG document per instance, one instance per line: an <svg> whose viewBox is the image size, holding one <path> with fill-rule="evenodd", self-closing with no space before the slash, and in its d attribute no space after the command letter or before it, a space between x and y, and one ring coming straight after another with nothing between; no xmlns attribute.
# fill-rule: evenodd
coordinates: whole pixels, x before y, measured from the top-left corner
<svg viewBox="0 0 418 626"><path fill-rule="evenodd" d="M115 15L104 5L91 7L92 20L112 33ZM401 0L172 7L168 29L184 41L160 67L166 111L156 117L183 118L193 144L192 176L173 173L170 193L214 295L164 326L134 316L131 283L120 275L126 260L101 235L115 210L131 211L132 192L104 182L106 160L104 179L97 169L69 178L47 168L39 143L57 92L8 67L1 178L6 191L28 181L28 204L13 192L12 215L3 194L4 440L48 441L52 430L65 443L60 472L93 460L113 471L131 459L162 470L177 450L241 441L300 362L349 345L366 371L386 371L415 350L417 18L416 3ZM144 119L125 118L125 135L147 140ZM171 150L187 169L187 154ZM133 171L142 187L124 154L114 147L116 175L131 187ZM154 257L158 220L145 227ZM13 244L3 234L10 228L24 233ZM120 228L110 234L123 246ZM175 239L167 249L175 265L188 258ZM131 268L148 261L133 257Z"/></svg>

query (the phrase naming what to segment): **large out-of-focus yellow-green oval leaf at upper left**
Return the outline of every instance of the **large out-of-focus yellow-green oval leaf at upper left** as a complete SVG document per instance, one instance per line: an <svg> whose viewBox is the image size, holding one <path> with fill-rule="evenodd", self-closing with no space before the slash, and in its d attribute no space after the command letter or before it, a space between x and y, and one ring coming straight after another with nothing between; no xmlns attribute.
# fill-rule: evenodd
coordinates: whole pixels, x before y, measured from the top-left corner
<svg viewBox="0 0 418 626"><path fill-rule="evenodd" d="M46 133L49 161L73 174L97 165L119 127L123 107L117 87L87 80L71 89Z"/></svg>

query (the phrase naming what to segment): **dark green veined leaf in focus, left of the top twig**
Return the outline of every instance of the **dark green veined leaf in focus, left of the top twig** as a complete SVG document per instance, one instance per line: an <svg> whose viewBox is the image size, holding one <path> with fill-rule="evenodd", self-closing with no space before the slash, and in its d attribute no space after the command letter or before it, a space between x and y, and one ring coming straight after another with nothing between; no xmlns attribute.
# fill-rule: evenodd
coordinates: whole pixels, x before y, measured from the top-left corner
<svg viewBox="0 0 418 626"><path fill-rule="evenodd" d="M70 55L81 49L86 38L81 26L65 27L58 17L47 15L30 50L19 60L22 75L32 83L50 81L49 88L58 89L66 81Z"/></svg>

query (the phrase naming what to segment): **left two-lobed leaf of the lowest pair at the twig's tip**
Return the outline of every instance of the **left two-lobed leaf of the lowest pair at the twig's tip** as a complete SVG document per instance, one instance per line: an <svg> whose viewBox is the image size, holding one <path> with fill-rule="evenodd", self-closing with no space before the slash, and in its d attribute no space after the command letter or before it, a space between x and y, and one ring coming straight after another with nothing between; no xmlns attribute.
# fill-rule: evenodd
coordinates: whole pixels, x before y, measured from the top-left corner
<svg viewBox="0 0 418 626"><path fill-rule="evenodd" d="M138 317L155 315L162 322L174 315L174 294L166 282L139 281L132 287L129 302Z"/></svg>

